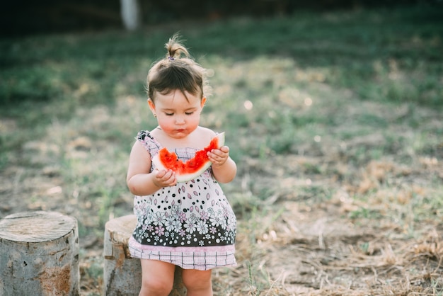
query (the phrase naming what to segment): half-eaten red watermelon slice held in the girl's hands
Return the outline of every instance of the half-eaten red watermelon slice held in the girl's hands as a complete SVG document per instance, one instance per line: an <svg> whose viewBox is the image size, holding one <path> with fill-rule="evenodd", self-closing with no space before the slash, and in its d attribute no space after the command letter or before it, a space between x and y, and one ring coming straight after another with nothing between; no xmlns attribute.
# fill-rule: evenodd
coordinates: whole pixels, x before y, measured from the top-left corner
<svg viewBox="0 0 443 296"><path fill-rule="evenodd" d="M224 132L215 136L209 145L202 150L195 152L195 156L186 162L177 158L175 152L169 152L168 149L162 148L159 154L152 158L152 162L159 170L171 169L176 172L177 182L190 181L197 178L211 166L212 162L207 157L207 152L212 149L220 148L224 145Z"/></svg>

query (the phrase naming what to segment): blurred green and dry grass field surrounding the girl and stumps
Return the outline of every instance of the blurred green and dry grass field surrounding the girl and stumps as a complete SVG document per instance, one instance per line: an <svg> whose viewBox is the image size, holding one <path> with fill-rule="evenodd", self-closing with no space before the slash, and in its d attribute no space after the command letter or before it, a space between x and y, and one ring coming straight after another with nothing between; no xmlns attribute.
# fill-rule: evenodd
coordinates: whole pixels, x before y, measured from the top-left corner
<svg viewBox="0 0 443 296"><path fill-rule="evenodd" d="M91 250L132 211L128 154L155 125L144 79L180 28L214 72L202 125L226 132L238 163L224 190L239 266L214 289L441 294L442 20L422 5L0 40L0 216L77 217L96 241L82 246L82 285L99 293Z"/></svg>

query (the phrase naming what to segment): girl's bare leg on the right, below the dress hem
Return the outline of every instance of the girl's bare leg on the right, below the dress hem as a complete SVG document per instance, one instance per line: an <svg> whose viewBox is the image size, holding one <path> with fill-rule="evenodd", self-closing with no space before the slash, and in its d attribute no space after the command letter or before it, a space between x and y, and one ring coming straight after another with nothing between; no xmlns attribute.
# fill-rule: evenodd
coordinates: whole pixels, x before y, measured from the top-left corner
<svg viewBox="0 0 443 296"><path fill-rule="evenodd" d="M183 269L183 284L188 296L212 296L211 271Z"/></svg>

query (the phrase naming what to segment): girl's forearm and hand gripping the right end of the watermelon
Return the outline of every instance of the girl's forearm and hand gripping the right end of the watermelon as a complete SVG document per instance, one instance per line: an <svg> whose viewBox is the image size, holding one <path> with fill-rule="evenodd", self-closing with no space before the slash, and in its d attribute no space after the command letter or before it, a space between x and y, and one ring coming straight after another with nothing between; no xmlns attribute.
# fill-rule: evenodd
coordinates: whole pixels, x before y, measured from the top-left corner
<svg viewBox="0 0 443 296"><path fill-rule="evenodd" d="M207 154L212 162L212 173L219 183L229 183L234 180L237 173L237 165L229 157L229 147L223 146L220 149L213 149Z"/></svg>

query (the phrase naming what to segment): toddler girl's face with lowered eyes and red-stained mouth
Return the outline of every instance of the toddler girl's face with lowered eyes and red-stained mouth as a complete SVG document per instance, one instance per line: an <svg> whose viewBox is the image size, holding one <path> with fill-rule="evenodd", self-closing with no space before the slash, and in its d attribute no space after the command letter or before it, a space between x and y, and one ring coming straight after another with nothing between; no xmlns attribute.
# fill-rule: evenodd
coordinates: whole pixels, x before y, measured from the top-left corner
<svg viewBox="0 0 443 296"><path fill-rule="evenodd" d="M156 115L161 130L166 135L181 139L193 132L200 123L200 113L206 98L186 92L188 100L180 90L166 95L156 93L155 103L149 99L149 108Z"/></svg>

